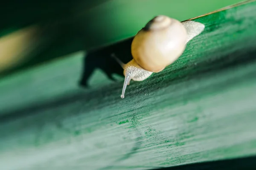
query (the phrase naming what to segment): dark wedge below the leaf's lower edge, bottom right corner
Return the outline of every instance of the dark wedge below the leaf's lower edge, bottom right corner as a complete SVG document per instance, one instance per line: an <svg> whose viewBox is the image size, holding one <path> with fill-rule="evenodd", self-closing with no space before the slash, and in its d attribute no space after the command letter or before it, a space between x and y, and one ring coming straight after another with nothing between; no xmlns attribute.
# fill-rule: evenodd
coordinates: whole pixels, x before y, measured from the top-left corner
<svg viewBox="0 0 256 170"><path fill-rule="evenodd" d="M256 156L186 164L154 170L256 170Z"/></svg>

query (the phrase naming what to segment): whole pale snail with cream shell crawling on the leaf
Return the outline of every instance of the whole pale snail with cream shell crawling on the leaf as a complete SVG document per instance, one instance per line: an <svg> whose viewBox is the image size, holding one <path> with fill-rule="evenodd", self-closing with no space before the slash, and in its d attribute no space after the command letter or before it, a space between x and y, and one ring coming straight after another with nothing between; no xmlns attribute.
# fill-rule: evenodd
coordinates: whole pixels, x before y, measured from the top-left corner
<svg viewBox="0 0 256 170"><path fill-rule="evenodd" d="M158 15L146 23L132 40L133 59L130 62L125 64L114 54L111 55L124 69L121 98L125 98L131 79L143 81L152 73L163 71L183 54L187 42L201 34L204 28L202 23L192 20L179 22L165 15Z"/></svg>

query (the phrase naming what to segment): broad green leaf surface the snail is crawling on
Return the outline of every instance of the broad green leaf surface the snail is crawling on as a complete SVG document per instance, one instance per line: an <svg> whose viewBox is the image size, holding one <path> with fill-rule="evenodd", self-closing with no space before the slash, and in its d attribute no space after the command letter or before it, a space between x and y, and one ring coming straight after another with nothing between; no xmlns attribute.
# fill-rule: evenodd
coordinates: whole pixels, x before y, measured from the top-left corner
<svg viewBox="0 0 256 170"><path fill-rule="evenodd" d="M192 19L202 34L124 99L110 54L128 62L132 38L2 78L1 167L153 169L255 155L255 16L249 1Z"/></svg>

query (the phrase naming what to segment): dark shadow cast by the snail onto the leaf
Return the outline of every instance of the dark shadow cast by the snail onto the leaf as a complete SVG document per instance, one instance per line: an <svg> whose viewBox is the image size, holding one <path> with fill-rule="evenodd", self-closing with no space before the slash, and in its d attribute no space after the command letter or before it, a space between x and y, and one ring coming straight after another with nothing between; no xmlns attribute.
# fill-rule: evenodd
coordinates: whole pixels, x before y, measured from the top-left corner
<svg viewBox="0 0 256 170"><path fill-rule="evenodd" d="M111 54L114 53L124 63L129 62L132 59L132 40L133 37L101 49L90 51L86 54L84 56L83 72L79 85L88 88L88 80L96 68L101 69L113 81L115 81L113 74L124 76L122 67L111 57Z"/></svg>

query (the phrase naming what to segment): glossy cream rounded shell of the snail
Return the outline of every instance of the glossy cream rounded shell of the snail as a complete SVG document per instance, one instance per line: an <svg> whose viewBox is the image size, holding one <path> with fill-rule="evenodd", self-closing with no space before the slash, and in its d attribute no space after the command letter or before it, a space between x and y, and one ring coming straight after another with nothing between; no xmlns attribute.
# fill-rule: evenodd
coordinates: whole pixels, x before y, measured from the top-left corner
<svg viewBox="0 0 256 170"><path fill-rule="evenodd" d="M134 37L131 54L141 68L160 72L174 62L186 47L187 33L178 20L159 15Z"/></svg>

